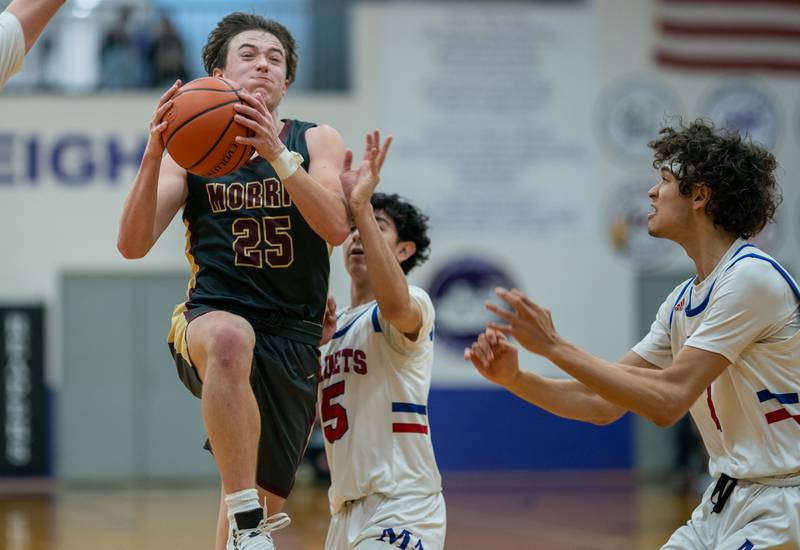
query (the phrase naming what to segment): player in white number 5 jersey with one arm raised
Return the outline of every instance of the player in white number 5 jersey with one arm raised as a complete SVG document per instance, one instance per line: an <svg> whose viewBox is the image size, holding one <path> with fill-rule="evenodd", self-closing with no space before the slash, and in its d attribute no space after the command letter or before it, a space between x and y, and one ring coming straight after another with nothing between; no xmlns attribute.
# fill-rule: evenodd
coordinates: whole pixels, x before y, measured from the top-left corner
<svg viewBox="0 0 800 550"><path fill-rule="evenodd" d="M322 354L319 403L331 469L326 550L441 550L445 505L428 427L431 300L405 274L427 259L427 217L374 193L391 143L367 136L342 186L353 217L344 243L350 306ZM370 153L370 151L372 151Z"/></svg>

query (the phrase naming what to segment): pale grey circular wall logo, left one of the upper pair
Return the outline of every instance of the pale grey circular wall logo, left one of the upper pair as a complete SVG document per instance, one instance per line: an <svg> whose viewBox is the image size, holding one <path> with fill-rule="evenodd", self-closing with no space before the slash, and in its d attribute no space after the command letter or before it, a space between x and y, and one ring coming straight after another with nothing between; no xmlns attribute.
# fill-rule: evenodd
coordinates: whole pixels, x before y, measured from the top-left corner
<svg viewBox="0 0 800 550"><path fill-rule="evenodd" d="M623 159L652 158L647 143L680 114L677 94L651 80L614 84L598 103L600 138Z"/></svg>

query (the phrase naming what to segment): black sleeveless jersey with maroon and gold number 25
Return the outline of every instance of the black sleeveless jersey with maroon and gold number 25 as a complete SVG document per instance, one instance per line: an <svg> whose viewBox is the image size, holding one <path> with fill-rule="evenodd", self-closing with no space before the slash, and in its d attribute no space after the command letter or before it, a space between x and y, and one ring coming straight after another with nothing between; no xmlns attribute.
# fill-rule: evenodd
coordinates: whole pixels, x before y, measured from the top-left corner
<svg viewBox="0 0 800 550"><path fill-rule="evenodd" d="M284 121L280 138L309 165L305 132ZM269 162L255 157L213 179L188 174L183 210L192 268L187 308L230 311L251 322L321 324L330 262L327 243L292 202Z"/></svg>

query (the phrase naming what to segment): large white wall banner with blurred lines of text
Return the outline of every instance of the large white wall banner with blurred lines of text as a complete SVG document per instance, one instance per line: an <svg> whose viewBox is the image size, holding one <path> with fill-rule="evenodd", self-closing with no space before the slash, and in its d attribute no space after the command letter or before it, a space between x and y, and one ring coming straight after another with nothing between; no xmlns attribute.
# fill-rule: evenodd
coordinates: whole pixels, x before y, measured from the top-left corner
<svg viewBox="0 0 800 550"><path fill-rule="evenodd" d="M574 233L595 207L590 3L395 4L381 9L387 178L436 226Z"/></svg>

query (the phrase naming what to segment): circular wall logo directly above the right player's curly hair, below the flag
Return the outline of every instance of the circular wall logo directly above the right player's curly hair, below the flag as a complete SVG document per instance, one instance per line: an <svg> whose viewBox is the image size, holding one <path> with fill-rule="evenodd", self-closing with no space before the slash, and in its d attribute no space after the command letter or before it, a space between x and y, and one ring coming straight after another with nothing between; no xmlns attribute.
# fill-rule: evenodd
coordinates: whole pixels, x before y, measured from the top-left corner
<svg viewBox="0 0 800 550"><path fill-rule="evenodd" d="M781 135L777 101L754 84L726 84L713 90L703 103L703 112L716 127L739 130L767 149L775 147Z"/></svg>

